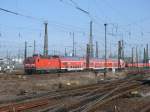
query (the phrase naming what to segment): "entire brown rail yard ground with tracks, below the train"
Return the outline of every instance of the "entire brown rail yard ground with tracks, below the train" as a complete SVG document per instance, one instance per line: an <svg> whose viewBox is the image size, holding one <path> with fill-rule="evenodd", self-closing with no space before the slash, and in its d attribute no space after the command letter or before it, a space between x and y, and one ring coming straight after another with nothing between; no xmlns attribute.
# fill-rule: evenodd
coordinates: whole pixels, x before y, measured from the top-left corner
<svg viewBox="0 0 150 112"><path fill-rule="evenodd" d="M0 74L0 112L150 112L150 74Z"/></svg>

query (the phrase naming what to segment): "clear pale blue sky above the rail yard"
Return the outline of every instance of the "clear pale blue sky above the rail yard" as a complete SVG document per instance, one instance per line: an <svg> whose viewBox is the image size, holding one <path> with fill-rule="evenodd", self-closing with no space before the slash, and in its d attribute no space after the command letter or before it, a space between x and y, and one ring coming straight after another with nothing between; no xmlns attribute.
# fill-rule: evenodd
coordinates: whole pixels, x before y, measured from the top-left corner
<svg viewBox="0 0 150 112"><path fill-rule="evenodd" d="M0 11L0 56L23 54L24 41L36 52L43 53L44 20L48 21L49 54L71 53L75 33L77 53L85 54L89 40L89 22L93 21L93 37L99 42L99 54L104 54L104 23L108 23L108 52L117 53L117 41L124 39L126 54L131 47L141 50L150 44L149 0L74 0L90 17L76 9L71 0L0 0L0 8L11 10L35 19ZM95 46L94 46L95 47ZM28 47L31 54L33 47Z"/></svg>

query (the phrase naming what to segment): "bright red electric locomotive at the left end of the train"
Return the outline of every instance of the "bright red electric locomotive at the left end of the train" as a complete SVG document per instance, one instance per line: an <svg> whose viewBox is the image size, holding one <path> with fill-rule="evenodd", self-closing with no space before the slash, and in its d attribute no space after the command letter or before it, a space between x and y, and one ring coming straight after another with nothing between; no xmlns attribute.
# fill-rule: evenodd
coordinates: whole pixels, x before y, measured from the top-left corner
<svg viewBox="0 0 150 112"><path fill-rule="evenodd" d="M28 57L24 61L24 69L27 74L35 72L50 72L60 70L61 63L59 57Z"/></svg>

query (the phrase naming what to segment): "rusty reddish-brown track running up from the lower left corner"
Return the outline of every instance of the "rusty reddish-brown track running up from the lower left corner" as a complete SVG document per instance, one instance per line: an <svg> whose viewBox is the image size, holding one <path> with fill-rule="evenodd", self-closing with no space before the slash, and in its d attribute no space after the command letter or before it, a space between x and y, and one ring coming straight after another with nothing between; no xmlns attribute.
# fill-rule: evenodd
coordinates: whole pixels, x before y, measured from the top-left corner
<svg viewBox="0 0 150 112"><path fill-rule="evenodd" d="M105 85L105 83L86 85L86 86L76 87L76 88L71 88L71 89L62 89L60 91L54 91L54 92L49 92L47 94L44 94L43 96L40 96L40 98L37 98L38 100L33 98L33 101L32 100L26 101L26 100L29 100L29 98L24 99L25 101L22 101L21 103L15 103L15 101L13 101L13 103L9 105L1 106L0 112L11 112L13 110L17 112L18 110L21 111L20 109L22 109L23 111L26 109L28 110L29 108L32 109L32 108L39 107L39 106L41 107L43 105L48 105L48 104L50 105L51 102L56 102L57 99L65 98L68 96L73 97L73 96L83 95L103 85Z"/></svg>

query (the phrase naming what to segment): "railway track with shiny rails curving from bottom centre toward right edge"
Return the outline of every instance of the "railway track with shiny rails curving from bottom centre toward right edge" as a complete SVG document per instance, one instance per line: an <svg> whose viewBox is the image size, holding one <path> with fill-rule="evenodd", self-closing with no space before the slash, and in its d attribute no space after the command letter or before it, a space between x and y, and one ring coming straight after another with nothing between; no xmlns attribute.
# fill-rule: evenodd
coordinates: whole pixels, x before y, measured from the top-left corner
<svg viewBox="0 0 150 112"><path fill-rule="evenodd" d="M60 112L64 110L65 112L94 112L97 107L117 97L120 97L121 95L131 92L131 90L135 89L139 85L140 84L138 83L124 83L119 85L117 88L113 87L107 90L101 89L101 91L97 90L98 93L95 93L94 95L88 94L88 97L80 97L78 102L72 101L70 104L66 103L63 107L61 106L61 109L57 109ZM58 110L54 112L58 112Z"/></svg>

